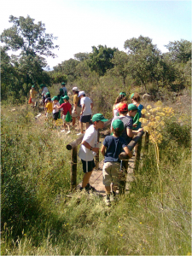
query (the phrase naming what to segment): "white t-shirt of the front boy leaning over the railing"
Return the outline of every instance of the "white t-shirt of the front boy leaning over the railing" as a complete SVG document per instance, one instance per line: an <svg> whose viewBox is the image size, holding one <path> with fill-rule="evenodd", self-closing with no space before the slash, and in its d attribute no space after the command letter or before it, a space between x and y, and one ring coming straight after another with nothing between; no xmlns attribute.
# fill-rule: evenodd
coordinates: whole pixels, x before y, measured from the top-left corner
<svg viewBox="0 0 192 256"><path fill-rule="evenodd" d="M97 131L94 128L94 125L90 125L90 127L85 131L83 141L89 143L91 147L96 148ZM84 161L91 161L94 158L93 151L85 148L84 145L81 144L79 149L79 158Z"/></svg>

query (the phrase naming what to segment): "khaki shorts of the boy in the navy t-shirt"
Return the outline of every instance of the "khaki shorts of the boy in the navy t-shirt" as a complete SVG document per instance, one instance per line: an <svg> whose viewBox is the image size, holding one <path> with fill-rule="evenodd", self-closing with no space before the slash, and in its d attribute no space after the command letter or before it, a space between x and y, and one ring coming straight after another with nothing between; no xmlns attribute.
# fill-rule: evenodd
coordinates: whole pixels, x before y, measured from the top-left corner
<svg viewBox="0 0 192 256"><path fill-rule="evenodd" d="M110 186L111 183L119 185L119 173L119 162L104 162L102 167L103 184L105 186Z"/></svg>

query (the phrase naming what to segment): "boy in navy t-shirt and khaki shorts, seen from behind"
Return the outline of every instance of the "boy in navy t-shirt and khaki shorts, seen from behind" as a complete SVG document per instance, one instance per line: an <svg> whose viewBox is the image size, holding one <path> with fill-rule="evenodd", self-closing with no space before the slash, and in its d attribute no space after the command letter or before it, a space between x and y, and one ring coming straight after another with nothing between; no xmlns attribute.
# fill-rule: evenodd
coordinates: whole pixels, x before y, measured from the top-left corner
<svg viewBox="0 0 192 256"><path fill-rule="evenodd" d="M105 185L106 190L107 206L110 205L111 183L113 183L113 200L116 198L116 190L118 189L119 185L119 154L121 153L122 149L124 149L126 154L128 154L130 157L132 156L130 149L127 147L125 139L123 137L119 137L123 130L124 123L120 119L115 119L112 123L113 135L105 137L102 143L101 152L102 155L105 157L104 165L102 167L102 175L103 184Z"/></svg>

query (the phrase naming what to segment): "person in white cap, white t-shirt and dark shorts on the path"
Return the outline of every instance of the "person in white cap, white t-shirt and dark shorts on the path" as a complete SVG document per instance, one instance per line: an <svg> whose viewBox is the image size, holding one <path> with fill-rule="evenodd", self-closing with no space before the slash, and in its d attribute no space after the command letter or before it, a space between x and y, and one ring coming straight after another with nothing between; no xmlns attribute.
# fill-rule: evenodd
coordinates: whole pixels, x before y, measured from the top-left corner
<svg viewBox="0 0 192 256"><path fill-rule="evenodd" d="M90 126L90 119L92 114L93 102L90 100L89 97L85 96L84 90L79 91L79 98L80 98L80 105L81 105L81 112L80 112L80 119L79 119L79 126L80 132L77 135L81 135L84 133L83 124L86 124L85 131Z"/></svg>

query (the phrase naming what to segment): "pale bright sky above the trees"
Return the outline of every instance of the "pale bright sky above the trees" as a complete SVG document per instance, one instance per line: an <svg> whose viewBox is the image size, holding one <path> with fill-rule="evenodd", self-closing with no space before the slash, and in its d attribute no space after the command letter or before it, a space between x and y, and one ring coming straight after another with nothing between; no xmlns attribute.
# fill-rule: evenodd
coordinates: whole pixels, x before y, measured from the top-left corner
<svg viewBox="0 0 192 256"><path fill-rule="evenodd" d="M169 42L191 41L191 7L191 1L172 0L6 0L1 6L0 33L12 26L10 15L42 21L60 46L55 59L47 58L52 69L99 44L125 51L125 41L140 35L151 38L162 52Z"/></svg>

